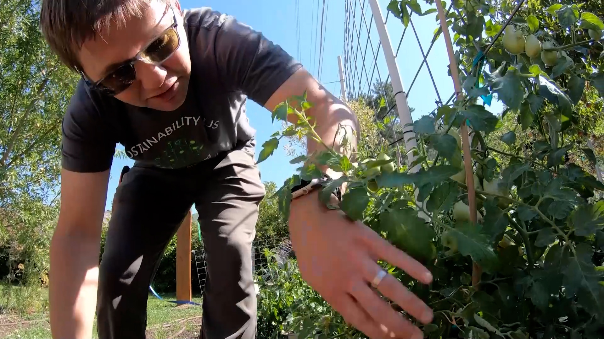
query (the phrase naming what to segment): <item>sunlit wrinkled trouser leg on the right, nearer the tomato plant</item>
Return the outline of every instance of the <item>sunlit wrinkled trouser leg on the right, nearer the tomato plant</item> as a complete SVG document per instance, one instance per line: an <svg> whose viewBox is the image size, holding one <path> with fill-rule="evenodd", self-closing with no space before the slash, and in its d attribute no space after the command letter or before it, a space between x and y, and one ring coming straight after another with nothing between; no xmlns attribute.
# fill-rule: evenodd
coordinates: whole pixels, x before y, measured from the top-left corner
<svg viewBox="0 0 604 339"><path fill-rule="evenodd" d="M214 168L195 201L208 277L201 339L254 339L257 300L252 240L265 195L252 154L236 150Z"/></svg>

